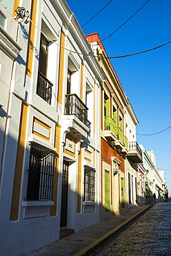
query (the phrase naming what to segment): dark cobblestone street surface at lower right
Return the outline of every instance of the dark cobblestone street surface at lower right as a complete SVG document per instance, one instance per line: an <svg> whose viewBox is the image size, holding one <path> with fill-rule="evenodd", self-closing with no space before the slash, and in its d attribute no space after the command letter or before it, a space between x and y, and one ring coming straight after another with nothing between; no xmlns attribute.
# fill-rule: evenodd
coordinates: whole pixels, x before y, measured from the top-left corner
<svg viewBox="0 0 171 256"><path fill-rule="evenodd" d="M156 203L97 255L171 255L171 203Z"/></svg>

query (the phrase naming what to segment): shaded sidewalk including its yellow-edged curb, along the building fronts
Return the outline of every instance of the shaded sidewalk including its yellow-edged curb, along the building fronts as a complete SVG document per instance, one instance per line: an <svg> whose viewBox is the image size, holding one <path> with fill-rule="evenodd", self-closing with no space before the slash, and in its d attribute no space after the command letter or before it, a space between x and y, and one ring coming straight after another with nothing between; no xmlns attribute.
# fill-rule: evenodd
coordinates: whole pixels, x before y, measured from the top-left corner
<svg viewBox="0 0 171 256"><path fill-rule="evenodd" d="M103 246L112 241L114 237L117 237L120 232L139 219L153 205L154 203L146 202L142 205L134 206L134 208L125 210L123 214L115 215L106 221L80 230L39 250L28 253L27 256L94 255Z"/></svg>

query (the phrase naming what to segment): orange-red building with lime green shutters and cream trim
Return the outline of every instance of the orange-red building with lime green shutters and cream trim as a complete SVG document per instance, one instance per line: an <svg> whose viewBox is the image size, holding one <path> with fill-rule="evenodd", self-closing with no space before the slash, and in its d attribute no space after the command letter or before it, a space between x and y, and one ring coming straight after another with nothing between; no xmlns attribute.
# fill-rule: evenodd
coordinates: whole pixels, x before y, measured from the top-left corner
<svg viewBox="0 0 171 256"><path fill-rule="evenodd" d="M105 74L101 86L101 187L100 219L119 214L125 208L125 106L128 99L108 59L98 33L86 35Z"/></svg>

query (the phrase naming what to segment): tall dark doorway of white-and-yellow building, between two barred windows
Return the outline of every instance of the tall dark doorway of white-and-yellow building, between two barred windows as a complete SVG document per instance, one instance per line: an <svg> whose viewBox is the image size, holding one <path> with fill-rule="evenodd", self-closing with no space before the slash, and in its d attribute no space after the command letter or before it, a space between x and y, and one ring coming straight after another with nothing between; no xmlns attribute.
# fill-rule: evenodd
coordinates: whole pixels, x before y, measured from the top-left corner
<svg viewBox="0 0 171 256"><path fill-rule="evenodd" d="M69 166L69 162L63 161L62 194L61 194L61 227L67 226L68 166Z"/></svg>

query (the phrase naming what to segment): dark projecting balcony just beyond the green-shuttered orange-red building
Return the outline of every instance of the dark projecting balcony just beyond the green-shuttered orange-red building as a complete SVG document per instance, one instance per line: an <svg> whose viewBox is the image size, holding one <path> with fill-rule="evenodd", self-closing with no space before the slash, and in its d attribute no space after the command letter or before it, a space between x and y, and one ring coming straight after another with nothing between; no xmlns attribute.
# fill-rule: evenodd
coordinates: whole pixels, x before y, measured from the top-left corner
<svg viewBox="0 0 171 256"><path fill-rule="evenodd" d="M128 158L130 158L130 160L133 163L142 163L142 150L139 147L137 141L131 141L129 142L129 153L128 153Z"/></svg>

